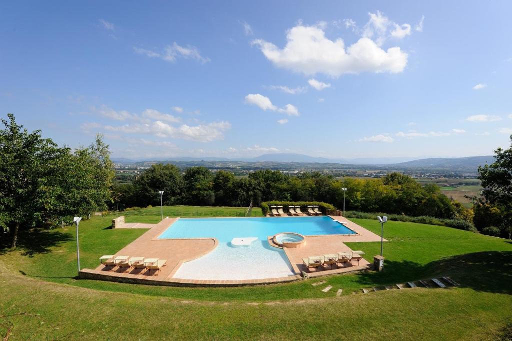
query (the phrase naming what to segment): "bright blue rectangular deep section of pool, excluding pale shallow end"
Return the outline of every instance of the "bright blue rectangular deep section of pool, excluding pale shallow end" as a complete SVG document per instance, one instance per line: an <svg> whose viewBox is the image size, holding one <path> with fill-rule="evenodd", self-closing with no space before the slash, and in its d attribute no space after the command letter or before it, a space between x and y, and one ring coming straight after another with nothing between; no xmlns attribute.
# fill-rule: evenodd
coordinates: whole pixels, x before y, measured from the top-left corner
<svg viewBox="0 0 512 341"><path fill-rule="evenodd" d="M235 237L258 237L260 240L267 240L268 236L280 232L295 232L302 235L355 233L328 216L180 218L158 238L214 237L219 243L228 243Z"/></svg>

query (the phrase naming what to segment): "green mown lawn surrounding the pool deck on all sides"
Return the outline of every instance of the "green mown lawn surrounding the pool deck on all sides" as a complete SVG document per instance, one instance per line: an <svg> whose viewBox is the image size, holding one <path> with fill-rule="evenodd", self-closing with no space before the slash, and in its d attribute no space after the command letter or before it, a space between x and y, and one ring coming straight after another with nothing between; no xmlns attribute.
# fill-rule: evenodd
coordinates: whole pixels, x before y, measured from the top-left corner
<svg viewBox="0 0 512 341"><path fill-rule="evenodd" d="M218 208L164 207L211 214ZM226 209L228 210L228 209ZM147 222L159 208L143 210ZM152 213L156 215L142 215ZM230 212L224 213L228 214ZM165 214L169 215L169 214ZM183 214L184 215L184 214ZM112 217L80 224L82 267L119 250L145 230L109 229ZM133 221L135 216L131 216ZM374 220L353 219L380 233ZM496 339L512 318L512 243L440 226L389 222L385 270L291 284L172 288L78 280L71 227L20 235L0 253L0 334L10 339ZM352 243L371 261L380 243ZM361 288L450 275L452 289L361 294ZM324 293L321 289L332 285ZM336 297L338 288L344 289ZM352 294L357 292L357 294ZM30 297L30 299L28 299Z"/></svg>

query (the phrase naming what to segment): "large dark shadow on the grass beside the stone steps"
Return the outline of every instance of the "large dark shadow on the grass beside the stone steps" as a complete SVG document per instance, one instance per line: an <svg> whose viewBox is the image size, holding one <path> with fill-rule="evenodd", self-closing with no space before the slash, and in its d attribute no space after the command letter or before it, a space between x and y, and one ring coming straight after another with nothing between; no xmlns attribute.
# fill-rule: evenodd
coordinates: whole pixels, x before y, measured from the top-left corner
<svg viewBox="0 0 512 341"><path fill-rule="evenodd" d="M484 251L444 257L426 265L415 262L384 261L382 272L357 274L368 286L392 285L441 276L450 276L463 288L512 294L512 252Z"/></svg>

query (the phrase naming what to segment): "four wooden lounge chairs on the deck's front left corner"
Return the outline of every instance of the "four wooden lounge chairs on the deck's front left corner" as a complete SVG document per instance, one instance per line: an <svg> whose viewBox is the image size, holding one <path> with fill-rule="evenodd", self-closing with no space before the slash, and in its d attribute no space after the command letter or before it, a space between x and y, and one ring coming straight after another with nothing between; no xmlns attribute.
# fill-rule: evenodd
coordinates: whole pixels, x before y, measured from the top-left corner
<svg viewBox="0 0 512 341"><path fill-rule="evenodd" d="M144 274L151 274L154 271L154 275L158 276L158 273L167 263L167 259L160 258L144 258L144 257L129 257L129 256L117 256L104 255L99 257L101 264L106 268L112 267L113 269L121 269L122 272L130 271L131 269L138 269L140 273L145 271Z"/></svg>

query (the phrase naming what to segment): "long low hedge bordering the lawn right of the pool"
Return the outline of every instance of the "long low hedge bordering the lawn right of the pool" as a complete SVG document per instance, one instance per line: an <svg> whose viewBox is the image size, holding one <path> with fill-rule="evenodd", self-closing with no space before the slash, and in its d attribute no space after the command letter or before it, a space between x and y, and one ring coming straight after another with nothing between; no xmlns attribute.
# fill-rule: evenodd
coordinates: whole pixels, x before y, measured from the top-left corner
<svg viewBox="0 0 512 341"><path fill-rule="evenodd" d="M401 214L386 214L386 213L367 213L367 212L357 212L357 211L345 211L345 217L347 218L362 218L362 219L375 219L377 215L387 215L389 220L395 220L396 222L409 222L409 223L418 223L418 224L429 224L429 225L438 225L438 226L446 226L453 227L459 230L466 230L478 233L478 230L475 228L473 224L467 222L462 219L442 219L442 218L434 218L430 216L419 216L419 217L411 217L408 215Z"/></svg>

